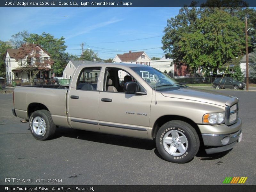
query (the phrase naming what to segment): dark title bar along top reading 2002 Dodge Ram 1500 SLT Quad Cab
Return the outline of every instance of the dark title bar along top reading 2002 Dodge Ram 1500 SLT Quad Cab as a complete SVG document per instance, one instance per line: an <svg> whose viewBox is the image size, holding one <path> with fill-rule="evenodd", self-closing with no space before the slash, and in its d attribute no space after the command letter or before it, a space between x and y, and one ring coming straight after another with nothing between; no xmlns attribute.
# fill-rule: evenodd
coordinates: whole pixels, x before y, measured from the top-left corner
<svg viewBox="0 0 256 192"><path fill-rule="evenodd" d="M202 5L206 7L256 6L255 0L196 0L196 2L197 7ZM183 7L190 6L191 3L192 0L5 0L0 2L0 7Z"/></svg>

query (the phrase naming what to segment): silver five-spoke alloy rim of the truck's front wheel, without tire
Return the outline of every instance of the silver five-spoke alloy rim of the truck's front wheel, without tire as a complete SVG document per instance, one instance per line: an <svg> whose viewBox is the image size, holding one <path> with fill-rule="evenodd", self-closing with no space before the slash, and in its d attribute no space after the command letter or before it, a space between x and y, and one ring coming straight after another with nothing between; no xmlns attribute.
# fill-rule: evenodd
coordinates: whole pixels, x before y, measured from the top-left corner
<svg viewBox="0 0 256 192"><path fill-rule="evenodd" d="M173 156L184 154L188 148L187 137L178 130L171 130L164 135L164 149Z"/></svg>

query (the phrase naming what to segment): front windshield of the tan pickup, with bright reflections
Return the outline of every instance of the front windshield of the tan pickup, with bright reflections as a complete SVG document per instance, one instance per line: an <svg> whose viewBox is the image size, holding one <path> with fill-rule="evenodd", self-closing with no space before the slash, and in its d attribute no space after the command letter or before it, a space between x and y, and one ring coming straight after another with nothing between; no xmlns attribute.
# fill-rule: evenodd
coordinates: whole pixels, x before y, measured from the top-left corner
<svg viewBox="0 0 256 192"><path fill-rule="evenodd" d="M166 88L167 86L179 86L186 87L181 85L172 79L170 76L162 73L161 71L152 68L152 67L132 67L139 76L141 76L144 81L146 81L153 89L159 90L161 88Z"/></svg>

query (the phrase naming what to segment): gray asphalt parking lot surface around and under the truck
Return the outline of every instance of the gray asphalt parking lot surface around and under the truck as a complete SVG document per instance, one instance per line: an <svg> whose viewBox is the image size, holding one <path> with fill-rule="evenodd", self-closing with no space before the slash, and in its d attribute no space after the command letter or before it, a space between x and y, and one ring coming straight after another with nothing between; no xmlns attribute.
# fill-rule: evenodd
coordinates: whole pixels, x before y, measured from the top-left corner
<svg viewBox="0 0 256 192"><path fill-rule="evenodd" d="M256 92L218 92L240 100L242 141L220 154L199 151L186 164L164 161L151 140L61 127L52 140L36 140L28 123L12 115L12 94L0 94L0 185L222 185L226 177L248 177L244 185L255 185Z"/></svg>

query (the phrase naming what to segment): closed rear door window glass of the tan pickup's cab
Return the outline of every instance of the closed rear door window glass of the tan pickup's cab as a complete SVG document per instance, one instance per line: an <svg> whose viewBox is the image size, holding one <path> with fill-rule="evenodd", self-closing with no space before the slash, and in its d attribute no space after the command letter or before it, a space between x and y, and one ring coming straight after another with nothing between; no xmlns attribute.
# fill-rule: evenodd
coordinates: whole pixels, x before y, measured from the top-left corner
<svg viewBox="0 0 256 192"><path fill-rule="evenodd" d="M100 68L84 68L77 80L76 89L82 91L96 91Z"/></svg>

